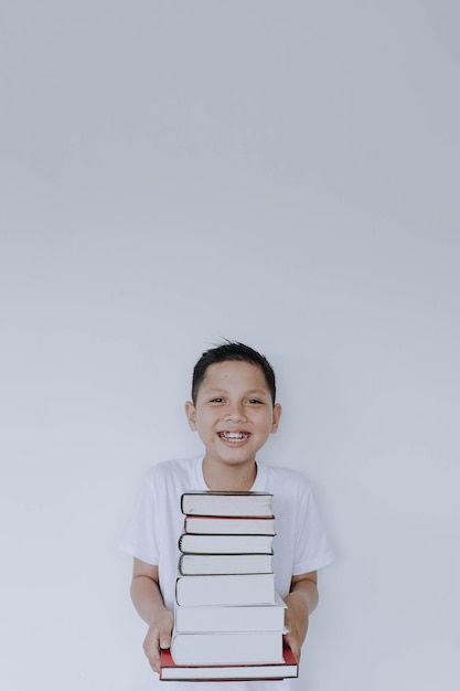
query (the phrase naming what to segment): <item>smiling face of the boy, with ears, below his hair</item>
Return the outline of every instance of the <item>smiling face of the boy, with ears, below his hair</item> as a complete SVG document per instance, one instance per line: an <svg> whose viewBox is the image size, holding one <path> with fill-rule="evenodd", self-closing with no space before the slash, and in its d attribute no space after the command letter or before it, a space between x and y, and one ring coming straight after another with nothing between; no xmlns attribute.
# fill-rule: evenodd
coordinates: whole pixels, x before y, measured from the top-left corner
<svg viewBox="0 0 460 691"><path fill-rule="evenodd" d="M207 463L242 466L254 464L277 430L281 406L272 404L258 365L231 360L207 368L196 404L189 401L185 412L206 448Z"/></svg>

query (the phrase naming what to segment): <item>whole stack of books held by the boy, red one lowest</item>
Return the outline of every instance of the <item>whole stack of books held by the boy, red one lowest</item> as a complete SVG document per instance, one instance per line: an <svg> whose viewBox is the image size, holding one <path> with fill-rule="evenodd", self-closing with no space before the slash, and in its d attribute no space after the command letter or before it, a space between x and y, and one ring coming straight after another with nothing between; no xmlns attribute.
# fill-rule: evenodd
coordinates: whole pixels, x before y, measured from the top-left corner
<svg viewBox="0 0 460 691"><path fill-rule="evenodd" d="M171 648L162 680L297 677L275 592L272 497L185 492Z"/></svg>

